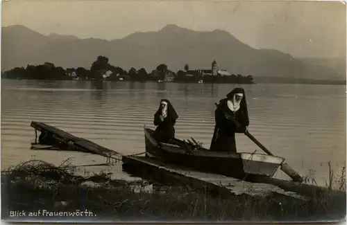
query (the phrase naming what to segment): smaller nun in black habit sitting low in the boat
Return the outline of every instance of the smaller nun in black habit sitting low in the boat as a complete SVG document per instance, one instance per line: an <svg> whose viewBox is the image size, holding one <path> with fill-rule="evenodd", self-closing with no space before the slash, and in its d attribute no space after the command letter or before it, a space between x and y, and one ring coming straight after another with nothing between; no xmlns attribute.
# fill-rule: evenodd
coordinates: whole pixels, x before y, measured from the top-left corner
<svg viewBox="0 0 347 225"><path fill-rule="evenodd" d="M175 138L174 125L178 115L176 110L167 99L160 100L158 111L154 114L155 139L160 142L168 142L171 138Z"/></svg>

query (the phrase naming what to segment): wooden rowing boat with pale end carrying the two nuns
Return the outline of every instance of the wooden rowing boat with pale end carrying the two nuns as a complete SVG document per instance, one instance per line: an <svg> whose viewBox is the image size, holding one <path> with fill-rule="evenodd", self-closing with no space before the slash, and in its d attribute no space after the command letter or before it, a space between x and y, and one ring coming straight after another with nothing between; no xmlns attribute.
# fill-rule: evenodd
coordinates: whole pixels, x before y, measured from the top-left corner
<svg viewBox="0 0 347 225"><path fill-rule="evenodd" d="M160 143L153 137L153 129L144 127L146 156L194 168L201 172L223 174L228 177L272 177L285 159L268 154L248 152L212 152L201 145L179 140ZM194 139L193 139L194 141Z"/></svg>

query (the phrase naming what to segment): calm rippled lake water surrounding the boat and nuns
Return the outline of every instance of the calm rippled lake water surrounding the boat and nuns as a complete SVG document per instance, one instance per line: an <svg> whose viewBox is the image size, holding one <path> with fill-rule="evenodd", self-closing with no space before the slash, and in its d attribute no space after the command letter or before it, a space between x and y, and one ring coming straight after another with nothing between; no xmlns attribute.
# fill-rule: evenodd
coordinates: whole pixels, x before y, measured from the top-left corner
<svg viewBox="0 0 347 225"><path fill-rule="evenodd" d="M310 84L245 84L249 131L273 154L285 157L301 174L314 172L328 180L346 165L346 86ZM210 147L214 102L234 84L176 84L84 81L1 81L1 169L40 159L60 164L104 159L79 152L30 150L35 138L31 120L56 126L122 154L144 152L144 125L153 127L160 99L176 108L178 138L194 137ZM238 151L262 152L244 134ZM96 160L97 159L97 160ZM311 172L310 172L311 171ZM127 175L116 172L119 177ZM276 177L286 176L278 170Z"/></svg>

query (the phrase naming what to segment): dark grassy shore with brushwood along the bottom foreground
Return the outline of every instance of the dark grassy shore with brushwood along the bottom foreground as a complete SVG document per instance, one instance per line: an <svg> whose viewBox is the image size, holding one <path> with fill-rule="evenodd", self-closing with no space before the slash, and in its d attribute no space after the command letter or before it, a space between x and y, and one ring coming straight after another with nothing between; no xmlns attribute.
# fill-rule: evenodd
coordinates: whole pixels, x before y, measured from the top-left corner
<svg viewBox="0 0 347 225"><path fill-rule="evenodd" d="M134 186L149 183L112 180L110 174L103 173L83 177L75 171L68 163L55 167L28 161L1 172L3 219L269 222L341 220L346 216L346 199L329 194L302 201L274 195L222 198L178 184L164 193L135 192ZM346 188L346 179L338 182ZM85 210L92 213L85 215ZM10 217L10 211L12 215L14 211L25 212L26 217ZM36 217L29 215L39 211ZM61 213L51 217L49 212Z"/></svg>

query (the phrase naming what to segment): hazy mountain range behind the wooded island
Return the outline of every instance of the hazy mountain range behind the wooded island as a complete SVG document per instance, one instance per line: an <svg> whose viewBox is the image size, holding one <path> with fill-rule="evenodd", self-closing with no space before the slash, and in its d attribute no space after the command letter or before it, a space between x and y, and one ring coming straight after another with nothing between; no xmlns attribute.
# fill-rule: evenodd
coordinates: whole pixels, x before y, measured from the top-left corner
<svg viewBox="0 0 347 225"><path fill-rule="evenodd" d="M27 64L52 62L56 66L90 68L99 55L123 69L159 64L169 69L210 69L216 60L230 73L260 77L344 80L330 66L312 64L273 49L255 49L225 30L194 31L169 24L155 32L133 33L123 39L78 39L74 36L41 35L24 26L3 27L2 70Z"/></svg>

